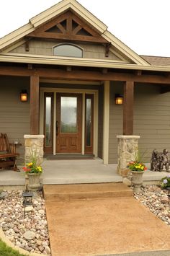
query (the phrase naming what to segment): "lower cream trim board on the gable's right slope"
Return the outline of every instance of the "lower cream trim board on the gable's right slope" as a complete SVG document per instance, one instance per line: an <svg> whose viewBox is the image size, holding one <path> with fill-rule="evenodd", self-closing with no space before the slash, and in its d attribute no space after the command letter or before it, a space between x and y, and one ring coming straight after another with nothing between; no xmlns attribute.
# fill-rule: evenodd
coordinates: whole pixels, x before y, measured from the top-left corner
<svg viewBox="0 0 170 256"><path fill-rule="evenodd" d="M120 50L120 52L124 53L125 56L130 58L136 64L150 66L150 64L147 61L143 60L143 58L140 58L140 56L138 56L137 53L135 53L133 50L128 48L127 45L122 43L119 39L117 39L117 37L112 35L109 31L105 31L104 34L102 35L102 37L104 37L104 39L106 39L108 41L111 41L112 45L115 46L115 48Z"/></svg>

